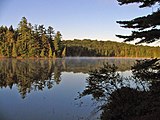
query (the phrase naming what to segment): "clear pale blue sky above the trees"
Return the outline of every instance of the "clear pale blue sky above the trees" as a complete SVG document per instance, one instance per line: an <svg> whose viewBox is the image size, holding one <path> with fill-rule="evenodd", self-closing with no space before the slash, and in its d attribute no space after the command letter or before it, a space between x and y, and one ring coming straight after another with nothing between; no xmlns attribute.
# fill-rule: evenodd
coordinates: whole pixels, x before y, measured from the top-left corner
<svg viewBox="0 0 160 120"><path fill-rule="evenodd" d="M117 0L0 0L0 26L18 26L24 16L34 24L52 26L63 39L123 41L115 34L129 34L117 20L130 20L151 13L138 5L119 6Z"/></svg>

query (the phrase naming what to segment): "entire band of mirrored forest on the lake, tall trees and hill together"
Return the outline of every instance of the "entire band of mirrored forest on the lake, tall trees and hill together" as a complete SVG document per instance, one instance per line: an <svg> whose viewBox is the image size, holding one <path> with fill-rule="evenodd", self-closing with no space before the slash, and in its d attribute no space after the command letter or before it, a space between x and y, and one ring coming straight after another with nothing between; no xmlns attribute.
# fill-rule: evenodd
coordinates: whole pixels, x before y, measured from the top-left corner
<svg viewBox="0 0 160 120"><path fill-rule="evenodd" d="M132 59L66 58L66 59L2 59L0 60L0 87L17 86L22 98L32 90L50 89L61 82L61 72L82 72L98 68L109 61L119 66L119 71L129 70Z"/></svg>

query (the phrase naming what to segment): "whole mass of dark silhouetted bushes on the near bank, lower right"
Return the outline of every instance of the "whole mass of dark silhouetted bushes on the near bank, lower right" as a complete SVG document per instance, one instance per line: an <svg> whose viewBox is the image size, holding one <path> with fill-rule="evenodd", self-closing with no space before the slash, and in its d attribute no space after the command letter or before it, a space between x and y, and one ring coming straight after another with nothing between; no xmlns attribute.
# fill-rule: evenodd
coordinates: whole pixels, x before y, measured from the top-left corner
<svg viewBox="0 0 160 120"><path fill-rule="evenodd" d="M159 120L159 60L138 60L132 74L128 78L120 76L117 67L107 63L90 73L80 97L92 95L95 100L103 101L102 120ZM130 80L141 83L143 89L129 86Z"/></svg>

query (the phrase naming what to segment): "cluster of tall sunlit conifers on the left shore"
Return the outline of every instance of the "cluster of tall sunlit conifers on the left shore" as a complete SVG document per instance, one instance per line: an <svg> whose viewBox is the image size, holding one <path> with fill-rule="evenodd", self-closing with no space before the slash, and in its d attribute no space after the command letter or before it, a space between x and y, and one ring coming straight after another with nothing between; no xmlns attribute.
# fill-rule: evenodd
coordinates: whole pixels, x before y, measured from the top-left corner
<svg viewBox="0 0 160 120"><path fill-rule="evenodd" d="M16 29L0 27L0 57L62 57L61 39L61 33L51 26L32 26L23 17Z"/></svg>

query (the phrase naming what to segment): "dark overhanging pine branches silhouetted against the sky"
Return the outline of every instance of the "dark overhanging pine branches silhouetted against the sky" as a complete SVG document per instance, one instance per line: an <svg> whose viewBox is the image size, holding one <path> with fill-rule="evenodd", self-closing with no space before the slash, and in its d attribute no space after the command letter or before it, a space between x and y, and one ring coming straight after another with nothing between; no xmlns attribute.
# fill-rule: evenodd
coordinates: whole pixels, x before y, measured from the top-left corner
<svg viewBox="0 0 160 120"><path fill-rule="evenodd" d="M141 3L140 8L153 7L160 4L159 0L118 0L118 2L120 5ZM116 35L119 38L125 39L125 42L140 39L137 44L152 43L160 39L160 9L147 16L138 17L130 21L117 21L117 23L124 28L137 29L132 31L132 34L129 36Z"/></svg>

